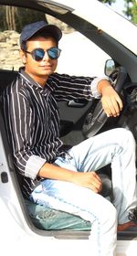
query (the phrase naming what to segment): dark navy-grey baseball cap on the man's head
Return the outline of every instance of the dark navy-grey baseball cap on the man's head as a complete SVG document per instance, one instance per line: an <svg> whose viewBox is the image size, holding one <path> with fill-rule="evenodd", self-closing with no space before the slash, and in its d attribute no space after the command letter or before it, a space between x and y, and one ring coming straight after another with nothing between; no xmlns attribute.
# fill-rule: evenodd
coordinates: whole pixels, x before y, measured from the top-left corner
<svg viewBox="0 0 137 256"><path fill-rule="evenodd" d="M38 31L43 30L55 37L57 41L62 37L61 30L55 25L49 25L45 21L37 21L26 25L20 35L20 45L26 42L29 38L33 37Z"/></svg>

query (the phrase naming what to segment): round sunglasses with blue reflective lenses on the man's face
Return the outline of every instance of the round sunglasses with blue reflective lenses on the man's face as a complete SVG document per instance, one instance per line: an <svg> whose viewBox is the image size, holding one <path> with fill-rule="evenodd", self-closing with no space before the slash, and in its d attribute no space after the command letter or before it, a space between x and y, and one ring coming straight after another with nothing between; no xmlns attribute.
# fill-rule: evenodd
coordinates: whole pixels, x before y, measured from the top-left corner
<svg viewBox="0 0 137 256"><path fill-rule="evenodd" d="M50 59L58 59L58 57L60 56L61 49L48 48L47 50L44 50L43 48L35 48L32 51L26 50L25 52L31 54L32 58L36 61L41 61L44 58L46 52Z"/></svg>

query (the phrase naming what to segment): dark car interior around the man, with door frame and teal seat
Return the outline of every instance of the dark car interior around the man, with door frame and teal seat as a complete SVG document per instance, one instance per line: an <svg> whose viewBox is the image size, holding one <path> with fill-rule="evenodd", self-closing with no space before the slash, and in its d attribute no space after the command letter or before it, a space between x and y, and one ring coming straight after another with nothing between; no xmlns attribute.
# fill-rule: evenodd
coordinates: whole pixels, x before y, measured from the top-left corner
<svg viewBox="0 0 137 256"><path fill-rule="evenodd" d="M137 81L134 74L137 63L135 56L128 49L125 51L120 42L111 38L98 27L94 27L88 21L83 21L78 16L72 15L71 9L66 8L66 6L58 7L55 11L53 5L37 5L36 3L35 5L33 4L33 8L44 11L47 15L55 16L67 23L69 27L79 30L80 33L88 37L99 48L107 52L111 59L113 59L114 64L114 69L110 72L110 78L114 82L115 90L120 93L124 102L121 116L116 118L106 117L102 111L100 100L58 102L61 123L60 134L64 143L78 144L90 136L115 127L130 129L137 141ZM132 58L129 58L129 54ZM123 55L124 59L122 59ZM104 68L106 67L107 62L104 65ZM14 69L0 69L0 93L12 80L16 79L16 75L17 71ZM66 212L38 206L27 201L22 196L13 165L10 146L5 134L2 105L0 105L0 109L0 133L5 157L16 188L18 201L29 227L38 234L54 236L58 239L88 239L91 230L90 222ZM103 182L102 196L111 200L111 166L108 165L100 169L99 175ZM7 182L6 174L4 174L2 180L4 183ZM136 236L137 229L134 231L131 229L118 232L118 240L131 240Z"/></svg>

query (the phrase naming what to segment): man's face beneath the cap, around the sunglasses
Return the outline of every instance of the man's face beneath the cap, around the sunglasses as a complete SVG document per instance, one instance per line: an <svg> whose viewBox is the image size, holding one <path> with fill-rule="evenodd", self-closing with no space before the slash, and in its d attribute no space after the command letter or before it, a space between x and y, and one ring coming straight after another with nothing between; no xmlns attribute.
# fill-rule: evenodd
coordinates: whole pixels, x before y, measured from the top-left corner
<svg viewBox="0 0 137 256"><path fill-rule="evenodd" d="M42 48L47 51L49 48L57 47L57 42L53 37L35 37L29 39L26 43L26 51L32 52L36 48ZM25 71L34 80L47 79L47 77L52 74L57 68L58 59L50 59L45 52L45 56L42 60L37 61L33 59L32 55L29 53L23 53L23 62L25 63Z"/></svg>

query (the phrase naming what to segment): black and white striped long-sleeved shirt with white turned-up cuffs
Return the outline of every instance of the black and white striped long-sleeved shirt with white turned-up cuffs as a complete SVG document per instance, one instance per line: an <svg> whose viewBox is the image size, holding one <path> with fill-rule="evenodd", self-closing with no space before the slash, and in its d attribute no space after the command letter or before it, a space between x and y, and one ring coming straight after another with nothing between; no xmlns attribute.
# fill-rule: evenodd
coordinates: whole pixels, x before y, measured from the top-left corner
<svg viewBox="0 0 137 256"><path fill-rule="evenodd" d="M42 179L37 176L42 165L53 163L65 154L59 139L57 101L82 98L90 101L91 83L97 93L93 78L54 73L48 77L46 86L41 87L20 69L16 80L5 89L2 97L5 127L17 173L22 176L24 196L29 197Z"/></svg>

